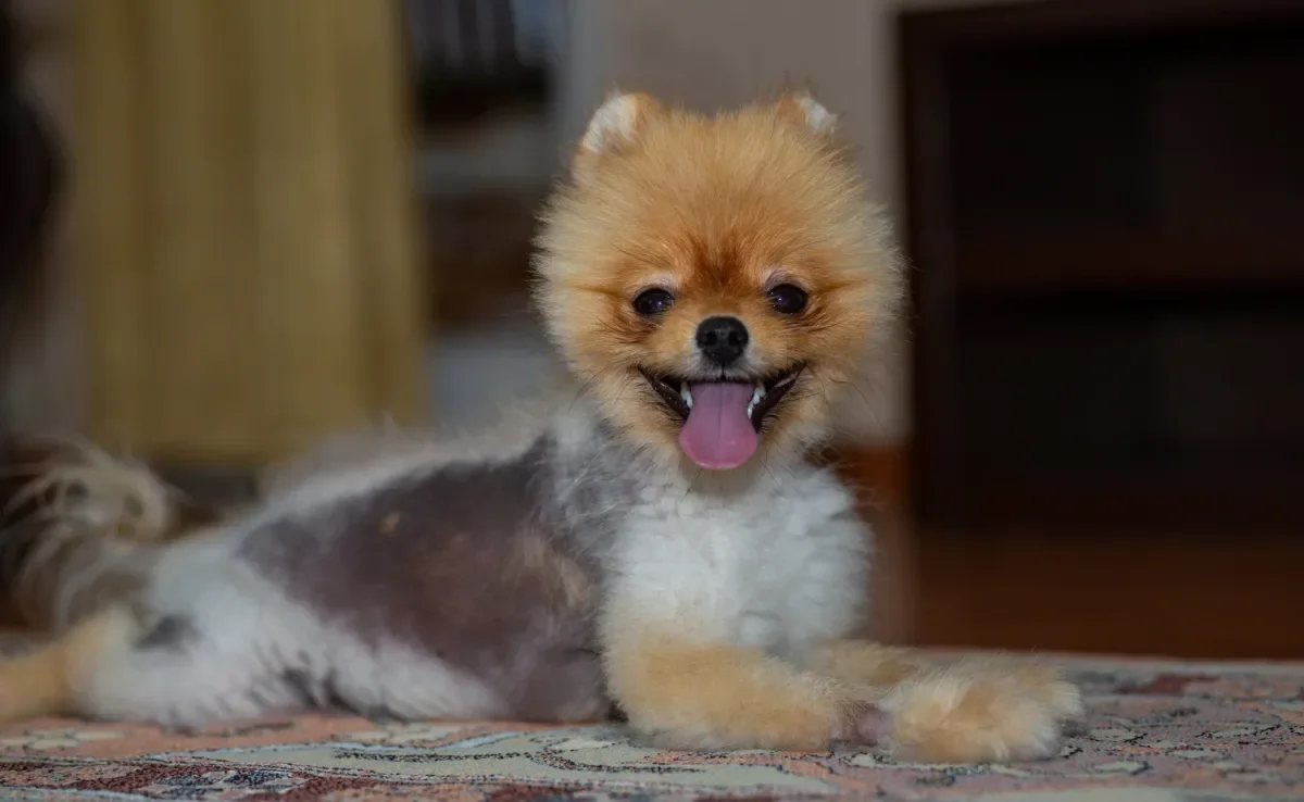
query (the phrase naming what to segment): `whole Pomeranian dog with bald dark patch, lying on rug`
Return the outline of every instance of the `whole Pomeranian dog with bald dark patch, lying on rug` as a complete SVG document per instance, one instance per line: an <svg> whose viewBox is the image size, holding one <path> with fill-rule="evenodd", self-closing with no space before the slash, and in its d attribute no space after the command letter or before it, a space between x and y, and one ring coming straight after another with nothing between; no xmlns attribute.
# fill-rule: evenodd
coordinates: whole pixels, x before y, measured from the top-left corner
<svg viewBox="0 0 1304 802"><path fill-rule="evenodd" d="M678 749L1052 754L1081 712L1054 669L855 638L870 532L807 456L901 266L833 128L807 94L608 99L542 215L537 303L580 391L536 424L346 443L215 514L94 450L44 458L4 582L57 636L0 664L0 719L614 703Z"/></svg>

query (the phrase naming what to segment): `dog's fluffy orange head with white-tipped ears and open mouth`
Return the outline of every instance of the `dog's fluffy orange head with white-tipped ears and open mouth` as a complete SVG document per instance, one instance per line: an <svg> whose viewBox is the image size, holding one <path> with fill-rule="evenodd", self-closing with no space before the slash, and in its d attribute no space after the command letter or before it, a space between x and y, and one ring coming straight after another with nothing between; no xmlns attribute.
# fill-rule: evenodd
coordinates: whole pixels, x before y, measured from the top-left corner
<svg viewBox="0 0 1304 802"><path fill-rule="evenodd" d="M885 230L807 95L597 111L545 215L537 300L623 434L708 469L829 430L898 295Z"/></svg>

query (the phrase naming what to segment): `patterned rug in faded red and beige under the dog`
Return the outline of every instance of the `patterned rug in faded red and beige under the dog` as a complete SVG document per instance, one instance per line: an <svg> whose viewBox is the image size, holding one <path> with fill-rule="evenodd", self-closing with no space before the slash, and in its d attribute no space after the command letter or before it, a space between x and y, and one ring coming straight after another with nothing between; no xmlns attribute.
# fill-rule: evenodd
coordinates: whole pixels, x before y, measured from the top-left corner
<svg viewBox="0 0 1304 802"><path fill-rule="evenodd" d="M1058 759L915 765L874 750L674 752L617 725L385 725L304 716L168 733L0 728L22 799L1304 799L1304 664L1067 660L1089 721Z"/></svg>

